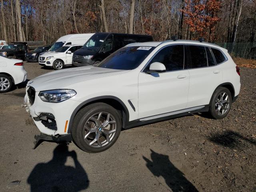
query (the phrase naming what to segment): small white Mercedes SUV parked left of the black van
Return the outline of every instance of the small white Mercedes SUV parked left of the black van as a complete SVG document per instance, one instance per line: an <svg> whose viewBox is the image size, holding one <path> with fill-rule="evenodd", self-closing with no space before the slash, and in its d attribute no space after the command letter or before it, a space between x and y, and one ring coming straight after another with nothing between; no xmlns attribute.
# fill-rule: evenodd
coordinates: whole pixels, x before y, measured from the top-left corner
<svg viewBox="0 0 256 192"><path fill-rule="evenodd" d="M73 53L83 45L65 45L55 52L46 52L39 57L39 64L50 66L55 70L63 69L64 66L72 65Z"/></svg>

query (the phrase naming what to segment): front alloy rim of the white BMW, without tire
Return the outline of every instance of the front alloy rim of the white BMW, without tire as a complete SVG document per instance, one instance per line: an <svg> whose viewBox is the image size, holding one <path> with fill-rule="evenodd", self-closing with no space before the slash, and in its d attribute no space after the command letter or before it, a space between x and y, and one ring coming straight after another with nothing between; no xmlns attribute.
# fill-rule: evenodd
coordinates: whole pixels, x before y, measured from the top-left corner
<svg viewBox="0 0 256 192"><path fill-rule="evenodd" d="M92 147L102 147L108 144L116 133L116 120L108 112L98 112L92 115L84 125L84 140Z"/></svg>

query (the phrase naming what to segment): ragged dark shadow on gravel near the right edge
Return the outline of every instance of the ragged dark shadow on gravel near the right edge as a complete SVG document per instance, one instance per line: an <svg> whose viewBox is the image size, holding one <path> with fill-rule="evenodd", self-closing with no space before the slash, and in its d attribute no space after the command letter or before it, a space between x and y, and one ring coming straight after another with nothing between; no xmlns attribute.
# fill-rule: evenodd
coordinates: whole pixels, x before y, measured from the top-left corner
<svg viewBox="0 0 256 192"><path fill-rule="evenodd" d="M208 140L229 148L244 146L244 142L256 145L256 139L244 137L238 132L231 130L227 130L224 133L212 134L208 137Z"/></svg>

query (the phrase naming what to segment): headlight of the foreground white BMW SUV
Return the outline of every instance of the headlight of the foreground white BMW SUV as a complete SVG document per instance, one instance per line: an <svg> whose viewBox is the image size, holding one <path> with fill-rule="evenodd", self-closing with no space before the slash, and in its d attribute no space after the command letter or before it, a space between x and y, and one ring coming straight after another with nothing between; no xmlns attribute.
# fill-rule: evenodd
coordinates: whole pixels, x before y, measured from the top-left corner
<svg viewBox="0 0 256 192"><path fill-rule="evenodd" d="M41 91L39 97L44 102L59 103L65 101L72 96L76 95L76 92L72 89L56 89Z"/></svg>

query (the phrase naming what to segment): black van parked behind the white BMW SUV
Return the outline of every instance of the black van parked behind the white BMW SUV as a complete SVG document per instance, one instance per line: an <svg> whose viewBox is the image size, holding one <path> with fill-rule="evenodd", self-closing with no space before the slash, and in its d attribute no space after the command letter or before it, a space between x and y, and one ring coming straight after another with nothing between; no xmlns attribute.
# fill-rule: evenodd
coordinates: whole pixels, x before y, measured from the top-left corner
<svg viewBox="0 0 256 192"><path fill-rule="evenodd" d="M72 64L74 66L95 65L127 44L152 40L152 36L149 35L96 33L80 50L74 52Z"/></svg>

